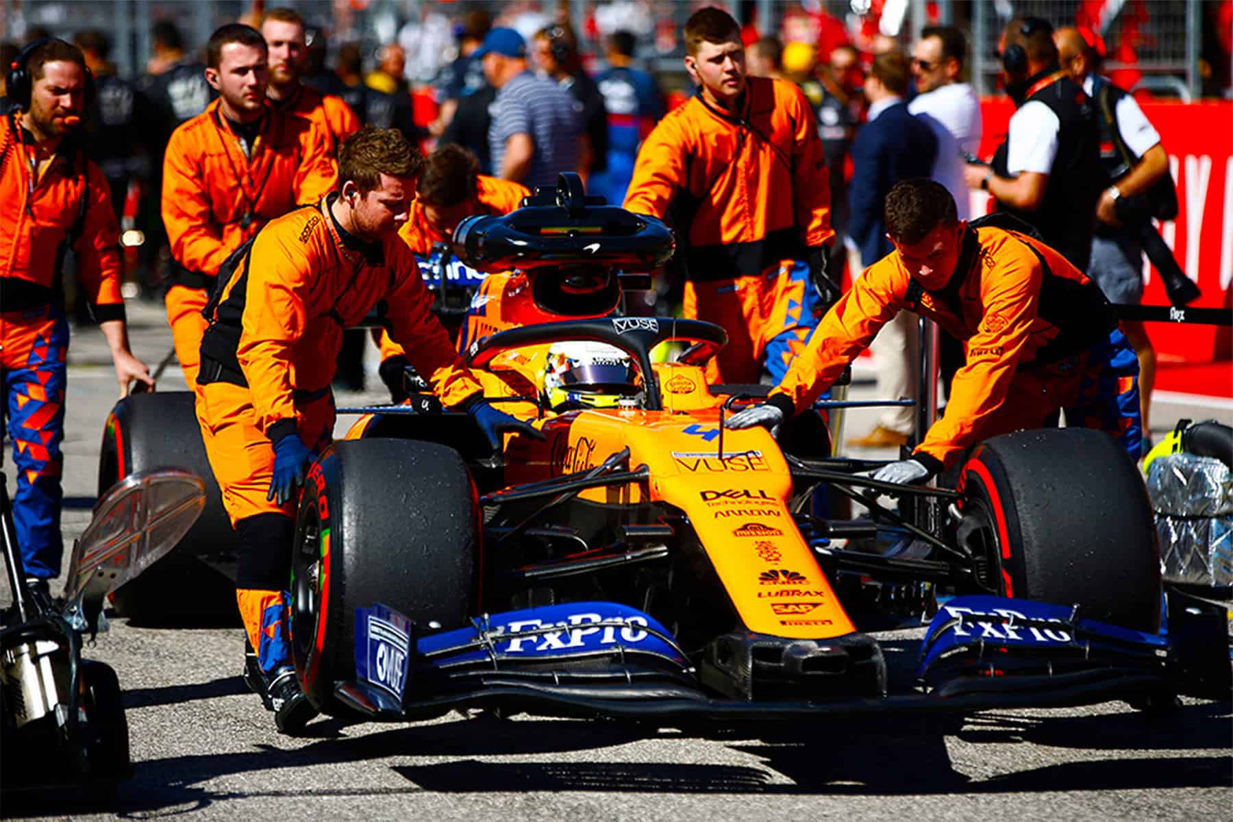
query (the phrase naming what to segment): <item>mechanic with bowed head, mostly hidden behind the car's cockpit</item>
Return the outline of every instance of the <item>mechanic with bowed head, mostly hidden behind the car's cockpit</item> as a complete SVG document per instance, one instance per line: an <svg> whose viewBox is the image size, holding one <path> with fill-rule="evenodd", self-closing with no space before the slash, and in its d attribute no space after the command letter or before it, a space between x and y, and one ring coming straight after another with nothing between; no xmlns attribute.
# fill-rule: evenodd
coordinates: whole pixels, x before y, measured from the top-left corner
<svg viewBox="0 0 1233 822"><path fill-rule="evenodd" d="M530 191L519 182L480 174L480 160L475 154L450 144L428 155L416 193L411 219L398 235L414 254L428 256L435 243L450 242L454 229L466 217L508 214L522 205ZM460 344L460 350L461 345L465 343ZM406 352L385 333L381 334L380 348L381 380L390 388L393 402L402 402L407 397L402 378L407 367Z"/></svg>

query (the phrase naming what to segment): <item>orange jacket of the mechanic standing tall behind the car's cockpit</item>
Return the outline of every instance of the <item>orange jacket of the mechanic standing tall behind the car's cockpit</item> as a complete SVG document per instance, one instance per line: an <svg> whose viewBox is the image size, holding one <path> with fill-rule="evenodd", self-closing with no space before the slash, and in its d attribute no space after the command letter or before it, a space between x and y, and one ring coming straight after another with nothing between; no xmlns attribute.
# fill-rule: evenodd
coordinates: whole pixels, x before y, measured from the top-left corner
<svg viewBox="0 0 1233 822"><path fill-rule="evenodd" d="M642 143L625 208L666 219L690 280L761 274L831 240L831 195L805 95L748 78L732 117L690 97Z"/></svg>

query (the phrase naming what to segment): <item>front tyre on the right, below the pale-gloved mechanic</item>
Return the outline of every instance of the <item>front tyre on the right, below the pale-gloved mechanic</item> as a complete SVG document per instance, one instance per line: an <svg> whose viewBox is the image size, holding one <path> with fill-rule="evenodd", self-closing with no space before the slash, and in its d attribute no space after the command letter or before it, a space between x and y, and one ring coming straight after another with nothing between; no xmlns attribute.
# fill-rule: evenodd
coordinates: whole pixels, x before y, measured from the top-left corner
<svg viewBox="0 0 1233 822"><path fill-rule="evenodd" d="M1000 594L1079 605L1138 631L1160 626L1160 557L1152 507L1113 437L1067 428L981 444L963 466L961 547Z"/></svg>

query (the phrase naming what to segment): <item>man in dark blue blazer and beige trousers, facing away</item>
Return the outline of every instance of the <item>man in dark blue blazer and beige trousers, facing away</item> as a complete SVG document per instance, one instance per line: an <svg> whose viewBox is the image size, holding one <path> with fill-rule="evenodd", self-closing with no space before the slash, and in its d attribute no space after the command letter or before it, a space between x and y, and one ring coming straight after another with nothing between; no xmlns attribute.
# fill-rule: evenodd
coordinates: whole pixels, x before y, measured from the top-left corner
<svg viewBox="0 0 1233 822"><path fill-rule="evenodd" d="M856 166L848 187L848 233L861 248L861 265L868 267L894 246L883 224L882 205L900 180L928 177L933 170L937 138L924 121L907 111L904 94L911 64L899 52L879 54L864 80L869 100L868 122L852 143ZM883 327L872 346L878 362L878 393L914 397L920 370L920 334L906 312ZM888 447L907 442L912 430L911 408L890 408L867 436L851 440L858 447Z"/></svg>

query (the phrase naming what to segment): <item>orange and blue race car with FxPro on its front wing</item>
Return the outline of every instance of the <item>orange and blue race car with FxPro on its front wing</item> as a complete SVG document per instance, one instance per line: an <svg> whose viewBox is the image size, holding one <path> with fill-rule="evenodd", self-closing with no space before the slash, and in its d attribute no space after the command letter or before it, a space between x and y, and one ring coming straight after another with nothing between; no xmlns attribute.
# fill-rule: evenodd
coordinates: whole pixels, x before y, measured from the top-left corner
<svg viewBox="0 0 1233 822"><path fill-rule="evenodd" d="M464 221L457 259L541 276L662 259L662 226L567 177ZM1228 698L1223 610L1170 593L1160 632L1152 511L1112 439L1022 431L978 446L953 488L878 482L885 463L831 456L816 414L778 436L726 428L767 387L708 385L725 343L621 315L477 338L488 399L544 434L496 450L430 394L349 409L296 523L291 640L313 705L760 720ZM868 514L831 515L837 498ZM930 617L914 682L893 688L869 633Z"/></svg>

